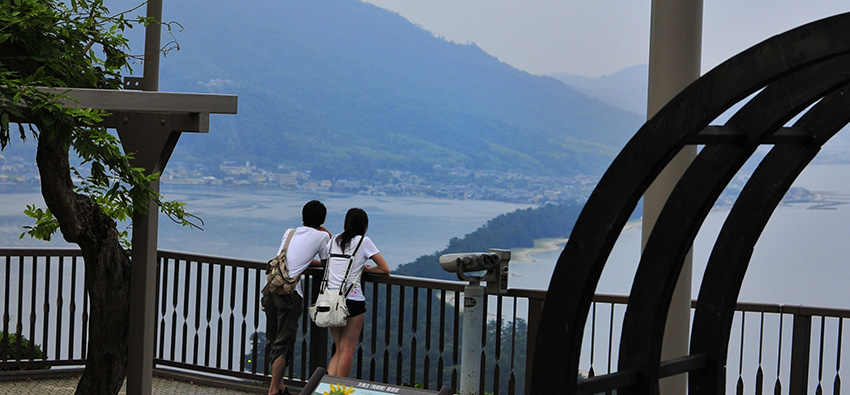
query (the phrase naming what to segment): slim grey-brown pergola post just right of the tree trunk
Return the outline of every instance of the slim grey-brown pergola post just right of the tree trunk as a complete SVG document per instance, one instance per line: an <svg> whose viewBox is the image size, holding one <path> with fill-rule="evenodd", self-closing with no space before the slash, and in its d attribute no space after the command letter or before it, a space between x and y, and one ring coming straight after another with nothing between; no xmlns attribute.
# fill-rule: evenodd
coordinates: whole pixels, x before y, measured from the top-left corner
<svg viewBox="0 0 850 395"><path fill-rule="evenodd" d="M162 20L162 0L149 0L147 16ZM144 78L141 88L145 91L159 90L159 50L162 26L151 24L145 30ZM125 151L137 152L134 166L147 169L148 173L162 172L171 151L167 151L165 160L161 160L165 145L163 143L145 143L139 137L141 125L131 125L130 133L121 135ZM119 134L122 131L119 130ZM130 141L134 136L135 141ZM162 138L162 137L160 137ZM167 136L165 137L167 140ZM175 142L176 144L176 142ZM173 149L173 146L171 147ZM144 153L150 159L139 157ZM159 192L159 181L151 184ZM156 254L157 230L159 228L158 207L148 203L147 214L133 215L133 250L130 270L130 342L127 350L127 395L150 395L153 379L154 334L156 333Z"/></svg>

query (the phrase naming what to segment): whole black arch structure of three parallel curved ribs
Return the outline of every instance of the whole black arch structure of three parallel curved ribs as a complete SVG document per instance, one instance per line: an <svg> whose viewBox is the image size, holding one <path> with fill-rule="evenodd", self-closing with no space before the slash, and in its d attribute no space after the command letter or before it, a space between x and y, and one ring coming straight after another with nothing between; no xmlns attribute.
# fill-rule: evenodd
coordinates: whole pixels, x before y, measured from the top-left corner
<svg viewBox="0 0 850 395"><path fill-rule="evenodd" d="M572 380L551 378L575 377L587 313L611 248L638 199L670 160L687 144L706 144L673 190L650 235L624 318L619 372L605 378L616 382L614 386L624 394L657 393L667 308L683 257L708 210L760 144L801 144L777 146L762 161L759 170L766 175L754 175L747 184L752 192L739 197L736 207L744 207L736 210L740 214L730 212L706 270L691 356L677 366L683 369L680 371L692 372L692 391L722 393L718 369L725 364L731 325L731 310L726 310L729 306L734 309L749 262L749 255L741 251L755 244L773 211L770 203L782 197L799 174L798 168L805 167L828 139L824 136L831 136L846 123L847 107L842 101L846 95L830 93L848 81L850 13L804 25L742 52L695 81L644 124L591 194L558 259L538 331L532 393L572 394L579 390ZM725 126L708 126L759 90ZM820 102L795 128L783 128L817 100ZM796 165L788 165L786 155L800 159ZM786 168L793 170L782 170ZM744 212L752 209L748 205L764 207L761 214ZM753 215L760 216L747 217ZM761 220L764 222L759 225ZM736 221L755 224L741 228ZM739 248L723 247L738 239ZM730 256L735 259L729 260ZM729 265L732 273L728 273ZM725 330L725 338L718 340L714 329ZM711 348L718 341L724 345L722 352Z"/></svg>

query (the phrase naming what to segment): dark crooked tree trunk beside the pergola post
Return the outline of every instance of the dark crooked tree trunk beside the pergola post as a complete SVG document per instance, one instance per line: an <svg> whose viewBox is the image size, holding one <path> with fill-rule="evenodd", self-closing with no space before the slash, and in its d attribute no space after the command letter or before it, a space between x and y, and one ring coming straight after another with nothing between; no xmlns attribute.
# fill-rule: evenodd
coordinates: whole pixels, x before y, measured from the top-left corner
<svg viewBox="0 0 850 395"><path fill-rule="evenodd" d="M41 194L59 221L64 239L79 245L85 259L89 343L76 393L117 394L127 375L130 258L121 246L115 221L88 196L74 192L68 144L53 138L57 131L38 129Z"/></svg>

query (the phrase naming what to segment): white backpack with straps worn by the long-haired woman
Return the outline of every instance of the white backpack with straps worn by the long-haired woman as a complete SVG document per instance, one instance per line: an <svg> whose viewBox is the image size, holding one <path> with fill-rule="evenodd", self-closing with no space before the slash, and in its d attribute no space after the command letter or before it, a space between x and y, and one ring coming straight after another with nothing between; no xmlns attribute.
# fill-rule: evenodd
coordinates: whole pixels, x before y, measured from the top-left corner
<svg viewBox="0 0 850 395"><path fill-rule="evenodd" d="M345 276L343 277L342 284L339 285L337 289L328 289L328 272L330 272L330 267L325 268L325 275L322 278L322 284L319 287L319 297L316 298L316 302L313 303L308 312L310 314L310 319L316 323L316 326L322 328L333 328L345 326L348 323L348 306L345 304L345 300L348 298L348 294L351 292L351 289L354 288L354 285L360 281L360 275L363 273L361 270L360 273L357 274L357 278L354 279L354 282L351 284L346 284L348 280L348 274L351 272L351 265L354 263L354 257L357 255L357 250L360 249L360 243L363 242L363 236L360 237L360 241L357 243L357 247L354 248L354 252L351 255L347 254L330 254L331 258L348 258L348 268L345 269ZM331 240L331 245L333 246L334 240ZM330 260L328 261L328 266L330 266Z"/></svg>

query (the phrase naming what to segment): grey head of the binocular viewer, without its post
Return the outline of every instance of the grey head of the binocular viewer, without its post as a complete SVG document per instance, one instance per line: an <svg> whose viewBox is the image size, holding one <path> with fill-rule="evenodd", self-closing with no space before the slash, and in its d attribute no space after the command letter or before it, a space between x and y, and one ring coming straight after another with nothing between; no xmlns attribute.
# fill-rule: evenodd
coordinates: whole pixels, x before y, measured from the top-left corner
<svg viewBox="0 0 850 395"><path fill-rule="evenodd" d="M467 252L440 256L440 266L449 273L457 273L459 280L486 281L491 293L504 293L508 289L508 263L510 250L491 248L487 252Z"/></svg>

